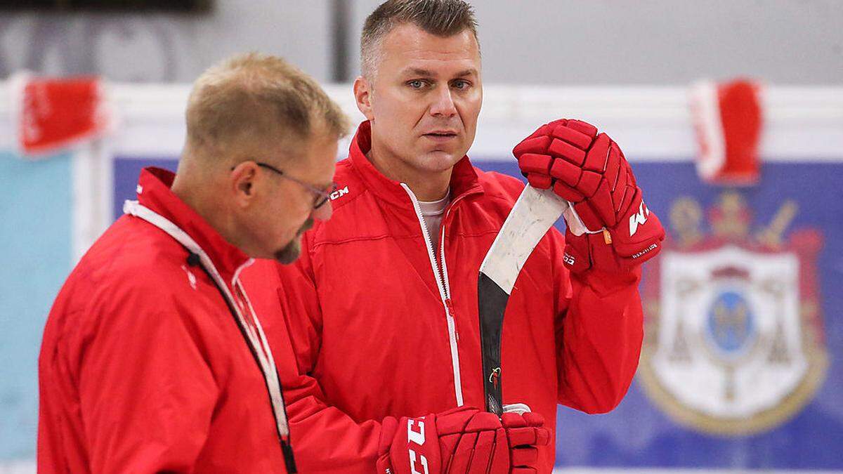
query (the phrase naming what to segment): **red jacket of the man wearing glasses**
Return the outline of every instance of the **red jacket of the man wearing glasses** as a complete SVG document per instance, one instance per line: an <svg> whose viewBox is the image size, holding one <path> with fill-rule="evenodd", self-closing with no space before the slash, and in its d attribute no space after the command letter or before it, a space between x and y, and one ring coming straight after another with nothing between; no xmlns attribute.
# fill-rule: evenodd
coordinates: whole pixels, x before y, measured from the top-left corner
<svg viewBox="0 0 843 474"><path fill-rule="evenodd" d="M194 240L196 256L123 216L53 304L38 361L39 472L287 472L265 378L203 271L207 257L250 315L237 283L250 259L169 190L173 178L142 171L139 205Z"/></svg>

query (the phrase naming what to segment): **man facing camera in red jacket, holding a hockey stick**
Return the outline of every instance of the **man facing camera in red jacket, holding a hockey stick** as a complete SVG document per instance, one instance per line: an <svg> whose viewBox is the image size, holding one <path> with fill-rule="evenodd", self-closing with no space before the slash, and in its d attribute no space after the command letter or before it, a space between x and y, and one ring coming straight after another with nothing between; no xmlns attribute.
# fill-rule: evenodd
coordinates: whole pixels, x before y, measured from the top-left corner
<svg viewBox="0 0 843 474"><path fill-rule="evenodd" d="M269 332L292 342L282 383L303 470L464 472L465 447L451 439L472 427L450 420L455 407L484 406L478 269L524 184L464 156L482 101L470 6L390 0L368 17L361 51L354 94L368 121L337 166L334 217L303 236L295 265L244 278L272 289L261 308L280 301ZM642 343L639 265L663 238L620 148L596 128L551 122L515 154L588 232L550 230L515 283L502 328L499 424L510 431L475 448L478 472L550 472L557 403L599 413L620 402ZM411 435L420 423L437 428L431 443Z"/></svg>

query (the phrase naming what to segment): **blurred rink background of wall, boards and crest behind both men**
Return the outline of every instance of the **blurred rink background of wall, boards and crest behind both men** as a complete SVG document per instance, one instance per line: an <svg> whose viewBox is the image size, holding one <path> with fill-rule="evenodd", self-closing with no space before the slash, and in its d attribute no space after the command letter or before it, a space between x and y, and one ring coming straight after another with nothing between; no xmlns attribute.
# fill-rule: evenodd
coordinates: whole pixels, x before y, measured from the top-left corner
<svg viewBox="0 0 843 474"><path fill-rule="evenodd" d="M358 121L358 35L378 4L0 2L0 474L35 471L52 299L138 171L175 168L193 79L276 54ZM560 407L557 467L843 471L843 2L474 5L474 163L518 175L510 150L534 128L591 121L668 228L631 391L607 415ZM50 128L62 117L90 127Z"/></svg>

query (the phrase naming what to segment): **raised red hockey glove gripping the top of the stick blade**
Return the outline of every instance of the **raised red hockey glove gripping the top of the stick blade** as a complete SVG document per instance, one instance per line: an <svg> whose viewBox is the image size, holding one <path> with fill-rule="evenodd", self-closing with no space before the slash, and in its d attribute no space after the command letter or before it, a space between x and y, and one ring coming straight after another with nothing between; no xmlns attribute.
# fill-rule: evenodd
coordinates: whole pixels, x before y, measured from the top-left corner
<svg viewBox="0 0 843 474"><path fill-rule="evenodd" d="M565 264L573 272L629 270L661 250L662 224L643 202L617 143L596 127L552 121L518 143L513 154L531 186L552 187L571 203ZM584 234L576 232L583 227Z"/></svg>

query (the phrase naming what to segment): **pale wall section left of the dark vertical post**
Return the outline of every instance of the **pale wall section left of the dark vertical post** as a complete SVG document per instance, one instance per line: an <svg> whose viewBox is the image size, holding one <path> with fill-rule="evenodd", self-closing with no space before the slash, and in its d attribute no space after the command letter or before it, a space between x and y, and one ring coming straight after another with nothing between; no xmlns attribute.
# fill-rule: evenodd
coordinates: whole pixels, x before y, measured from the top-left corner
<svg viewBox="0 0 843 474"><path fill-rule="evenodd" d="M44 14L0 11L0 78L27 68L124 82L189 83L223 57L263 51L325 80L329 0L217 0L212 13Z"/></svg>

